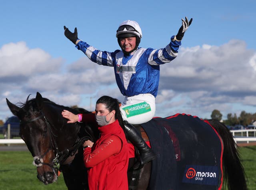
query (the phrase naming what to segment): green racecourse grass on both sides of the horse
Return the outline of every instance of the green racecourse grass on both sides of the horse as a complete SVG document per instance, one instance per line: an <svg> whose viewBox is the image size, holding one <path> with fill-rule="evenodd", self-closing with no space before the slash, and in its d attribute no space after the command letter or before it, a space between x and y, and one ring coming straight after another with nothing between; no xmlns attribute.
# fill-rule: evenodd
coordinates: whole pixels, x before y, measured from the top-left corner
<svg viewBox="0 0 256 190"><path fill-rule="evenodd" d="M249 190L256 190L256 146L239 148ZM0 188L4 190L65 190L62 174L45 186L36 178L36 167L27 151L0 152ZM224 189L224 188L223 188Z"/></svg>

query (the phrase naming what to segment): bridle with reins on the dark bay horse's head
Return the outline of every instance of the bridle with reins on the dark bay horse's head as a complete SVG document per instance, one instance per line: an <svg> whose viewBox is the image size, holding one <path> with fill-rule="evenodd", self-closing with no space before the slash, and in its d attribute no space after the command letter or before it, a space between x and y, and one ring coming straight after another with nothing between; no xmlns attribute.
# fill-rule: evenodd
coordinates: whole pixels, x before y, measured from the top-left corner
<svg viewBox="0 0 256 190"><path fill-rule="evenodd" d="M74 143L74 146L72 146L71 148L66 148L62 151L59 151L58 149L58 145L56 143L55 137L57 137L57 135L55 135L52 132L52 128L56 129L54 127L53 124L51 124L49 122L49 120L46 118L46 116L44 115L44 113L41 110L41 115L33 118L31 120L28 121L21 121L20 125L24 125L24 124L28 124L31 122L34 122L38 119L43 119L44 122L46 123L47 129L50 133L50 142L51 142L51 147L48 148L46 150L46 152L44 152L44 154L42 154L40 157L36 156L36 158L34 157L34 162L33 164L37 167L42 166L42 165L47 165L50 166L51 168L53 168L53 172L56 174L56 172L59 170L59 166L60 164L62 164L69 156L74 156L74 154L76 154L78 148L84 143L85 140L91 140L92 141L92 136L90 136L90 134L87 132L88 136L84 136L82 138L77 138L76 142ZM55 158L52 160L52 164L43 162L43 157L50 151L53 150L55 153Z"/></svg>

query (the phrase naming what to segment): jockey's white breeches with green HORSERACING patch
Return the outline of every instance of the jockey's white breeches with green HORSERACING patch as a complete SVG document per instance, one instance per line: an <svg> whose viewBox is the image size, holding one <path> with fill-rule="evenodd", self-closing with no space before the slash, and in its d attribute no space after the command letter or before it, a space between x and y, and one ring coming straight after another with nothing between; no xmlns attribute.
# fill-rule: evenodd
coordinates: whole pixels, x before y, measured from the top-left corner
<svg viewBox="0 0 256 190"><path fill-rule="evenodd" d="M130 124L142 124L154 117L156 111L155 97L152 94L126 96L120 107L122 117Z"/></svg>

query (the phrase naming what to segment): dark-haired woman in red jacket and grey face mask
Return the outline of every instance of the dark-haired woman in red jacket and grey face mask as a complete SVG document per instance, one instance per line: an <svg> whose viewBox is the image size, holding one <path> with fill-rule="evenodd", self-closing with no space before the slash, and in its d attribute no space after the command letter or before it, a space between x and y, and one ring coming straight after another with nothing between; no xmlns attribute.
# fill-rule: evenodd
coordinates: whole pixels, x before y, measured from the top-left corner
<svg viewBox="0 0 256 190"><path fill-rule="evenodd" d="M100 138L84 142L84 165L88 168L90 190L128 190L128 144L119 101L102 96L96 102L95 119ZM77 122L78 116L64 110L62 116ZM121 124L121 125L120 125Z"/></svg>

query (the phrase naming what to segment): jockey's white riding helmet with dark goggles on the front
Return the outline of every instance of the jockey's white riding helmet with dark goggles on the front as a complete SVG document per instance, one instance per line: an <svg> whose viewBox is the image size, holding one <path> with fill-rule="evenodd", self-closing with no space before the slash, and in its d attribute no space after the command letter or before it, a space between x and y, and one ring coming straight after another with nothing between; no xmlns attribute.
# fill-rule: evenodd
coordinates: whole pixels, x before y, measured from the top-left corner
<svg viewBox="0 0 256 190"><path fill-rule="evenodd" d="M132 37L134 36L134 34L139 38L142 38L140 25L138 24L138 22L133 20L126 20L122 22L119 25L118 30L116 30L116 38Z"/></svg>

